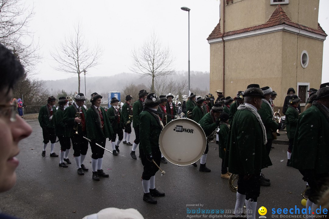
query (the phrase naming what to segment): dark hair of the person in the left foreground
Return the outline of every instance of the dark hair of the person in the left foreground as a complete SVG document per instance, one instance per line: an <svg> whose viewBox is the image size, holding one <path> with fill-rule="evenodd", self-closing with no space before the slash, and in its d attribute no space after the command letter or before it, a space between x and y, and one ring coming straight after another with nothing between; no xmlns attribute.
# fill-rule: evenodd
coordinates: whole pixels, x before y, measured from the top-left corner
<svg viewBox="0 0 329 219"><path fill-rule="evenodd" d="M8 90L6 94L13 88L15 83L24 75L24 68L17 57L11 50L0 43L0 91Z"/></svg>

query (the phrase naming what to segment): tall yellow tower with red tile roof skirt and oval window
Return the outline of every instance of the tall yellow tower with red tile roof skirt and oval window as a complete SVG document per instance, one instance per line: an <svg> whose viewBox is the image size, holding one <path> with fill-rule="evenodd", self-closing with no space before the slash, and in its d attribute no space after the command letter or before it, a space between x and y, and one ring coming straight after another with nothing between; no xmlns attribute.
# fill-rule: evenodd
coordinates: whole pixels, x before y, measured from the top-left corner
<svg viewBox="0 0 329 219"><path fill-rule="evenodd" d="M305 105L322 77L319 0L220 0L220 20L210 44L210 89L235 96L248 84L269 86L282 106L294 88Z"/></svg>

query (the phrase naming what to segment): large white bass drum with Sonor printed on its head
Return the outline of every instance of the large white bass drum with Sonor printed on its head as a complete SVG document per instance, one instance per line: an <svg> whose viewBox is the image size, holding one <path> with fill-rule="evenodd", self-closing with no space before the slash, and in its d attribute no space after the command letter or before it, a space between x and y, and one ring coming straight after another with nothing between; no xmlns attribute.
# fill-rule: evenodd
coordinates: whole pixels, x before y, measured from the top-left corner
<svg viewBox="0 0 329 219"><path fill-rule="evenodd" d="M163 156L178 166L197 162L205 151L206 144L206 135L201 126L187 118L170 121L162 129L159 138Z"/></svg>

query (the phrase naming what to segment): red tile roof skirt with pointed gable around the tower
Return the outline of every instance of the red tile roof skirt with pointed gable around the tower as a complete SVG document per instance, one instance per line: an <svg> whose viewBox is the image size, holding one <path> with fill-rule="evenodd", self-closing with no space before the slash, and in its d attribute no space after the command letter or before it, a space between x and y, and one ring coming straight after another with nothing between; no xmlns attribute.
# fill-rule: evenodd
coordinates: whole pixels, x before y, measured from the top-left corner
<svg viewBox="0 0 329 219"><path fill-rule="evenodd" d="M274 26L281 25L281 24L286 24L286 25L289 25L289 26L292 26L292 27L295 27L295 28L298 28L298 29L301 29L304 31L327 36L327 34L323 31L323 29L321 28L319 23L317 25L317 29L313 29L310 27L306 27L305 25L301 25L301 24L292 22L290 20L290 18L288 17L288 15L286 14L286 12L283 11L283 9L281 8L281 5L278 5L278 7L273 11L271 17L264 24L249 27L249 28L244 28L241 30L229 31L229 32L226 32L223 34L220 31L220 22L219 22L217 24L217 26L215 27L215 29L213 30L213 32L209 35L207 40L221 38L222 36L231 36L231 35L235 35L235 34L239 34L239 33L246 33L249 31L260 30L260 29L264 29L264 28L268 28L268 27L274 27Z"/></svg>

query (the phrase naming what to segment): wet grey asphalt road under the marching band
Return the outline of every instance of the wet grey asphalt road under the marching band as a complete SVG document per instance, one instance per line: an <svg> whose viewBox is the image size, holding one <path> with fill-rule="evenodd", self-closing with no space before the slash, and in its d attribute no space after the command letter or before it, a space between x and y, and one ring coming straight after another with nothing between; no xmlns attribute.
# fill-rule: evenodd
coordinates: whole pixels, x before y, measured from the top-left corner
<svg viewBox="0 0 329 219"><path fill-rule="evenodd" d="M186 218L187 208L234 209L236 193L230 191L228 180L220 178L221 159L218 145L209 144L207 166L210 173L199 172L199 167L161 164L166 174L156 174L156 188L165 192L158 197L158 204L152 205L142 200L143 189L141 161L130 157L132 146L120 144L119 156L105 151L103 169L109 178L100 181L91 179L91 150L89 147L85 165L89 171L84 176L77 174L71 149L68 168L58 166L59 158L49 157L48 144L46 157L41 157L42 133L38 121L30 121L33 133L20 142L17 168L17 183L10 191L0 195L0 207L5 213L25 219L36 218L83 218L103 208L136 208L144 218ZM134 133L131 142L134 140ZM287 167L287 146L274 144L270 158L273 166L263 170L271 186L261 187L257 207L302 208L301 192L305 182L298 170ZM110 142L106 144L110 147ZM55 152L59 154L60 144ZM138 152L136 152L138 157ZM199 162L197 162L199 166ZM199 206L188 206L188 205ZM202 205L202 206L200 206ZM257 209L258 209L257 208ZM212 215L205 215L208 218ZM214 215L216 216L216 215ZM218 215L217 215L218 216ZM256 216L259 216L256 214ZM271 217L267 213L267 217Z"/></svg>

